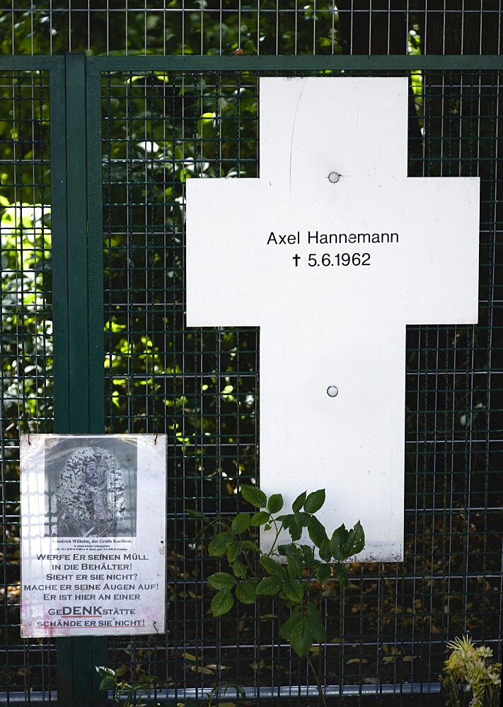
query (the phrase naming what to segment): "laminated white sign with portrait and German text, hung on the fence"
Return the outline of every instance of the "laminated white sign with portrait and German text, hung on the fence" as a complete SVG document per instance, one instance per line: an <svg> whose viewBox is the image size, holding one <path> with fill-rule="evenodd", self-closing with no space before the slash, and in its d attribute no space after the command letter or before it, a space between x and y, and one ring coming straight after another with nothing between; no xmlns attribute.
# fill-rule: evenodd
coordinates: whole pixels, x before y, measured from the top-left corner
<svg viewBox="0 0 503 707"><path fill-rule="evenodd" d="M163 633L163 435L21 438L21 635Z"/></svg>

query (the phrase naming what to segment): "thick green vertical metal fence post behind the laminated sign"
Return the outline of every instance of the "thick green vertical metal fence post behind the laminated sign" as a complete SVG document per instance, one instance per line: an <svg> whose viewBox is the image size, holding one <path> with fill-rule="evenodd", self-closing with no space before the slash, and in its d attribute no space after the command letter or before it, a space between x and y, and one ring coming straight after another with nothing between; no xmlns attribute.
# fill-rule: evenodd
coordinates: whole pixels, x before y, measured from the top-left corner
<svg viewBox="0 0 503 707"><path fill-rule="evenodd" d="M100 74L69 54L51 71L54 430L103 433ZM93 85L91 85L93 84ZM60 707L103 702L106 638L57 639Z"/></svg>

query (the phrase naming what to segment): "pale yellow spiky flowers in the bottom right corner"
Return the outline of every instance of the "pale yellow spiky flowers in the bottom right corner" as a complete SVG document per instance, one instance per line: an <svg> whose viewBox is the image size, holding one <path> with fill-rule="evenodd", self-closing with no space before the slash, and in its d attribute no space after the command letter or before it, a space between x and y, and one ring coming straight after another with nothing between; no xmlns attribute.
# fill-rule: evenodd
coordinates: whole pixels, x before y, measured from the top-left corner
<svg viewBox="0 0 503 707"><path fill-rule="evenodd" d="M497 707L501 700L501 663L492 663L492 650L475 646L470 636L455 638L444 662L441 683L449 707Z"/></svg>

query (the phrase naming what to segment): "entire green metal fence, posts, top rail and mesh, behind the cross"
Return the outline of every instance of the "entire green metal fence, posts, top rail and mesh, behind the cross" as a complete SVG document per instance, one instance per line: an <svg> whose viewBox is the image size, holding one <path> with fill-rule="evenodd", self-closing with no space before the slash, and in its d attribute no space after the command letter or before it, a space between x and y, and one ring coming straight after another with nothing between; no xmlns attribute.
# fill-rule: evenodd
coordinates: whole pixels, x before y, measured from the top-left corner
<svg viewBox="0 0 503 707"><path fill-rule="evenodd" d="M481 178L479 324L407 327L405 561L329 583L322 682L337 702L428 703L447 640L470 631L501 654L503 60L2 57L6 703L91 704L98 664L155 675L178 701L226 683L254 703L316 694L274 601L211 617L215 564L186 515L236 510L238 479L260 478L260 332L185 326L185 182L258 174L258 78L278 74L410 76L409 175ZM21 641L28 430L166 433L166 635Z"/></svg>

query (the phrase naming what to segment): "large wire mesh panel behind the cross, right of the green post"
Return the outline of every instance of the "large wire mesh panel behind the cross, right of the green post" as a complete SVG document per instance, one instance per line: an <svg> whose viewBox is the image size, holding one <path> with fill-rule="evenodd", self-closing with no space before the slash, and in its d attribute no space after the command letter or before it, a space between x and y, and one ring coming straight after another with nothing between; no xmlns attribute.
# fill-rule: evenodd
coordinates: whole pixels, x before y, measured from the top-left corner
<svg viewBox="0 0 503 707"><path fill-rule="evenodd" d="M109 662L173 696L229 683L292 699L315 686L278 636L274 600L212 618L205 578L219 564L187 515L234 513L238 483L260 479L258 329L187 329L184 316L185 183L258 175L258 78L103 74L107 429L166 433L169 470L166 635L110 641ZM481 180L480 318L407 328L405 561L354 565L346 590L313 590L328 643L311 657L333 694L436 691L446 641L466 631L500 650L501 81L410 74L409 175Z"/></svg>

